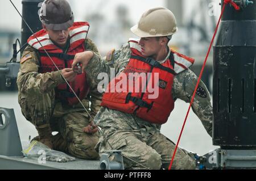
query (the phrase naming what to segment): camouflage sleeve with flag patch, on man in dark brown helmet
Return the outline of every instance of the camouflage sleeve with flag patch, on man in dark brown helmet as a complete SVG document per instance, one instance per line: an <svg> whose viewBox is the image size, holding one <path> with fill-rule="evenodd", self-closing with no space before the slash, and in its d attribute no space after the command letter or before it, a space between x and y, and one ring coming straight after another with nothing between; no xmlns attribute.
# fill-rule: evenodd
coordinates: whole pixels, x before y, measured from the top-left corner
<svg viewBox="0 0 256 181"><path fill-rule="evenodd" d="M26 47L20 60L20 69L17 78L19 92L28 94L34 92L48 92L54 89L60 83L64 83L59 71L51 73L38 73L40 66L39 54L35 49Z"/></svg>

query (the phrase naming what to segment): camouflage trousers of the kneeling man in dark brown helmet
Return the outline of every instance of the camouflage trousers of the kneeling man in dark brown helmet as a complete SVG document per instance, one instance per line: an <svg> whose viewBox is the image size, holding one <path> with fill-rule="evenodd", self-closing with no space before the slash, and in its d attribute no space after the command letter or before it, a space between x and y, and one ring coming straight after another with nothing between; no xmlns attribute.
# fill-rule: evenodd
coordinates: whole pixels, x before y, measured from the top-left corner
<svg viewBox="0 0 256 181"><path fill-rule="evenodd" d="M82 103L86 108L89 101ZM64 151L82 159L99 159L94 146L99 134L88 134L82 128L89 124L89 115L80 104L68 106L55 100L55 91L47 94L19 96L22 113L36 128L49 124L52 131L59 132L53 136L53 149ZM60 137L61 136L61 137Z"/></svg>

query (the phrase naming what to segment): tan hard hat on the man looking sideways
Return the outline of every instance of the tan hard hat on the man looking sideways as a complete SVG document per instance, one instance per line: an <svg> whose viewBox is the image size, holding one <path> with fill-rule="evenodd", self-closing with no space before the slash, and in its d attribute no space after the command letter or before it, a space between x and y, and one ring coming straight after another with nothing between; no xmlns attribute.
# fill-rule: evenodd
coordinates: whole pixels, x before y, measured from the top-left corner
<svg viewBox="0 0 256 181"><path fill-rule="evenodd" d="M177 30L174 14L163 7L147 10L131 28L131 32L139 37L171 36Z"/></svg>

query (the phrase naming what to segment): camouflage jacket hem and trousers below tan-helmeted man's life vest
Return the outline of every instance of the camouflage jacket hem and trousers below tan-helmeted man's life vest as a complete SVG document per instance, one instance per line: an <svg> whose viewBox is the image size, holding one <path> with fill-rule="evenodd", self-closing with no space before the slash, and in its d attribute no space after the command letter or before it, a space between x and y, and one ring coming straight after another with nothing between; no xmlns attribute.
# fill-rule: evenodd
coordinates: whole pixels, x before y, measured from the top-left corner
<svg viewBox="0 0 256 181"><path fill-rule="evenodd" d="M160 133L160 125L104 107L94 120L108 140L100 137L96 146L100 155L106 150L121 150L125 169L168 169L175 144ZM172 169L196 169L196 161L188 151L178 148Z"/></svg>

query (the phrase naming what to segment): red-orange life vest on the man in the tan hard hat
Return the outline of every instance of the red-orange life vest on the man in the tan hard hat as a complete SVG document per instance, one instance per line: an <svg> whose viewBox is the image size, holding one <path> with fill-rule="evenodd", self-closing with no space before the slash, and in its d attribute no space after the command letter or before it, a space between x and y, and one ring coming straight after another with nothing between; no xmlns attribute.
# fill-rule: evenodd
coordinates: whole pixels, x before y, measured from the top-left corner
<svg viewBox="0 0 256 181"><path fill-rule="evenodd" d="M110 81L102 97L101 106L126 113L134 113L150 123L164 124L174 109L174 99L171 94L174 75L187 69L193 64L194 60L171 51L168 60L160 64L152 58L142 56L137 40L130 40L129 44L131 48L129 63L121 74ZM177 61L175 57L177 57ZM175 66L177 66L176 69ZM131 79L129 73L145 73L147 75L146 81L142 81L143 78L140 77L132 77L133 79L130 80L132 83L129 84L129 79ZM155 76L159 76L159 78ZM132 91L131 89L122 91L123 86L117 87L118 82L124 81L124 79L126 79L125 86L128 87L126 90L129 90L129 86L131 86ZM158 96L154 99L150 99L150 95L152 96L150 87L159 90Z"/></svg>

